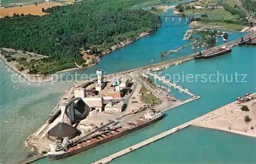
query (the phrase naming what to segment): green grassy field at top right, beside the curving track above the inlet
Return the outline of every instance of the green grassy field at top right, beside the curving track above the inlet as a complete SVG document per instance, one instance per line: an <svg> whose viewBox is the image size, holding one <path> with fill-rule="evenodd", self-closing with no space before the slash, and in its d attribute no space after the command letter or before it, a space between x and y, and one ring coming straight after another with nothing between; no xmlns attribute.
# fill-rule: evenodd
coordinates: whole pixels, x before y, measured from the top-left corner
<svg viewBox="0 0 256 164"><path fill-rule="evenodd" d="M194 10L185 10L185 14L207 14L212 16L217 16L218 18L225 18L225 19L234 19L236 15L232 15L230 12L226 11L225 9L218 8L216 10L207 10L207 9L194 9Z"/></svg>

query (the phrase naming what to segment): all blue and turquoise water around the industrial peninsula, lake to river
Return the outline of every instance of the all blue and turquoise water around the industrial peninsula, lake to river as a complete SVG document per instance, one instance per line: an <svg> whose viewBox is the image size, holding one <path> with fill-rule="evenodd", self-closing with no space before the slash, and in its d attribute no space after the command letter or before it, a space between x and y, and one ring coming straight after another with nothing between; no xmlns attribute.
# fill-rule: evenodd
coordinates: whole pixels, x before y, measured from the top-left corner
<svg viewBox="0 0 256 164"><path fill-rule="evenodd" d="M160 56L160 52L174 50L189 43L189 41L182 40L188 29L185 19L181 22L165 22L163 19L163 25L156 33L103 57L97 65L77 71L77 73L92 74L96 69L103 68L106 74L111 74L193 53L195 49L188 47L166 57ZM229 39L236 39L244 34L232 32ZM232 102L246 92L254 92L256 90L255 55L255 48L252 46L236 47L229 55L210 60L189 61L165 69L162 74L172 75L184 72L185 75L209 75L219 71L222 74L231 75L238 72L247 74L247 83L180 82L179 85L188 88L202 98L167 111L166 118L150 127L70 158L51 162L91 163ZM33 129L38 128L47 119L59 97L74 83L28 85L27 82L11 82L13 74L2 62L0 63L0 163L13 163L26 157L28 149L25 148L24 141ZM113 163L169 163L169 161L174 163L255 163L255 141L252 137L189 127L114 160ZM34 163L49 163L49 161L45 158Z"/></svg>

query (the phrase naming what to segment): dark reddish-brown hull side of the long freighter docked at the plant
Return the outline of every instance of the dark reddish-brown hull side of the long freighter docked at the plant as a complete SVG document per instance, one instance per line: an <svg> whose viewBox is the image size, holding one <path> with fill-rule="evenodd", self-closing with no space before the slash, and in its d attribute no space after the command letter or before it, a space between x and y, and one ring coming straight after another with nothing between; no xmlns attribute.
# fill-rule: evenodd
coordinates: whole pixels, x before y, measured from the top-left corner
<svg viewBox="0 0 256 164"><path fill-rule="evenodd" d="M122 131L120 133L113 134L113 135L111 135L109 137L105 137L104 139L99 140L98 142L95 142L93 144L90 144L90 145L87 145L87 146L84 146L84 147L77 148L77 149L75 149L73 151L69 151L69 152L65 152L65 153L61 153L61 154L48 154L49 160L58 160L58 159L68 158L68 157L70 157L72 155L75 155L75 154L84 152L86 150L92 149L92 148L94 148L94 147L96 147L98 145L110 142L111 140L116 139L118 137L121 137L121 136L123 136L125 134L134 132L134 131L139 130L141 128L144 128L144 127L146 127L148 125L154 124L157 121L161 120L162 118L163 118L163 115L159 116L159 118L156 118L156 119L151 120L149 122L146 122L144 124L138 125L138 126L136 126L134 128L127 129L127 130Z"/></svg>

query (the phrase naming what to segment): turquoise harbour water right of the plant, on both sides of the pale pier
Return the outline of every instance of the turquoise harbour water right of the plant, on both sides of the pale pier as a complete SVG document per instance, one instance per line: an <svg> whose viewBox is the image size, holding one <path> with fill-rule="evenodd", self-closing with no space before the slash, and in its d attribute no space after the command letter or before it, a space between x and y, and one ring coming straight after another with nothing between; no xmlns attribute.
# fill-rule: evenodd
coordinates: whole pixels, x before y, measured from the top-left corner
<svg viewBox="0 0 256 164"><path fill-rule="evenodd" d="M243 52L246 52L244 54ZM243 55L244 54L244 55ZM245 56L246 55L246 56ZM180 82L201 96L194 102L166 112L156 124L120 137L78 155L52 163L91 163L151 136L233 102L246 92L255 92L255 48L236 47L229 55L210 60L189 61L164 70L164 74L247 74L246 82ZM183 73L184 72L184 73ZM217 78L216 78L217 79ZM212 78L211 80L216 80ZM229 79L228 79L229 80ZM238 78L238 80L242 80ZM129 153L111 163L255 163L256 139L217 130L189 127L156 143ZM247 150L247 151L242 151ZM41 159L34 163L47 163Z"/></svg>

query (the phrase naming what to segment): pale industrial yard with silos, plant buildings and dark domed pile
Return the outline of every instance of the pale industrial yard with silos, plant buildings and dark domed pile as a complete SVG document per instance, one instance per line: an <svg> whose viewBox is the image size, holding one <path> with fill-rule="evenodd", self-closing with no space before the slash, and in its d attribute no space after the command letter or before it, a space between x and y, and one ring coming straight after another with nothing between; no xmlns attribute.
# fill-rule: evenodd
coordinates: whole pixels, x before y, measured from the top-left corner
<svg viewBox="0 0 256 164"><path fill-rule="evenodd" d="M51 118L27 139L28 147L46 153L50 144L61 143L63 137L79 140L110 121L124 124L148 110L170 109L181 103L164 89L153 89L141 73L103 77L103 70L98 69L96 74L97 79L77 83L61 97Z"/></svg>

